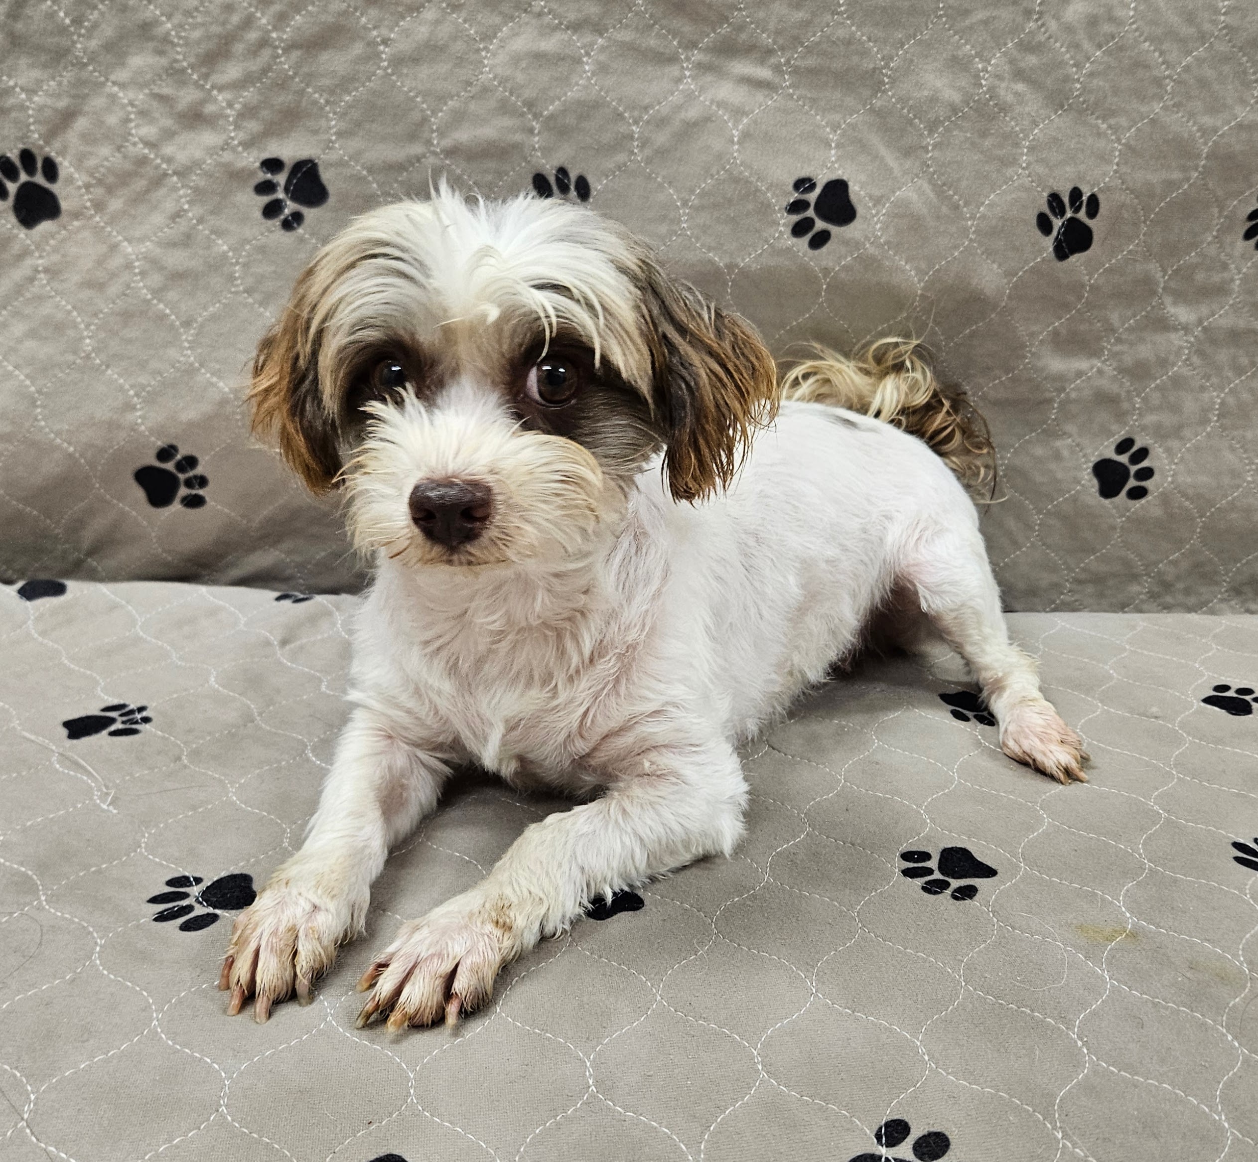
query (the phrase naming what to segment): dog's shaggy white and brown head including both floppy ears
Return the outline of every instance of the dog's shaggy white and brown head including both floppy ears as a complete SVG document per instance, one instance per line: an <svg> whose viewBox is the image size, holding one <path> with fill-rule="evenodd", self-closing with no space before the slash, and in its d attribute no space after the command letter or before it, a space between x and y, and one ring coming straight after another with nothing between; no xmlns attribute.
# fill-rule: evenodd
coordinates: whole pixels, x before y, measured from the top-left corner
<svg viewBox="0 0 1258 1162"><path fill-rule="evenodd" d="M443 189L320 252L250 401L309 488L347 483L360 547L483 566L577 556L660 449L676 498L728 484L776 375L590 210Z"/></svg>

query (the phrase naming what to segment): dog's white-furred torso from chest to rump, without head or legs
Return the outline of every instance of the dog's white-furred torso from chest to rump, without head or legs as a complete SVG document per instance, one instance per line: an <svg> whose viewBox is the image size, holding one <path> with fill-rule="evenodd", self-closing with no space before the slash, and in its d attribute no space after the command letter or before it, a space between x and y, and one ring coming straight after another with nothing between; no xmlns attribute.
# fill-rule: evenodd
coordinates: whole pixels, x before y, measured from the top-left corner
<svg viewBox="0 0 1258 1162"><path fill-rule="evenodd" d="M828 411L785 407L704 504L672 502L648 468L624 522L564 567L382 561L357 626L357 700L454 761L565 788L595 785L585 756L648 716L749 736L859 639L918 528L949 508L974 519L920 441ZM871 459L898 492L859 487Z"/></svg>

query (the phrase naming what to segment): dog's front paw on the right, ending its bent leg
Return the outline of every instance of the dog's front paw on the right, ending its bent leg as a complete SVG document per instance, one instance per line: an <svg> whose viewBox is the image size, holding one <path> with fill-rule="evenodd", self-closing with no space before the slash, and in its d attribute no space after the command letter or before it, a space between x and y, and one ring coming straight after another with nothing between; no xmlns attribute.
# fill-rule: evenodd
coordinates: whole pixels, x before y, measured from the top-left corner
<svg viewBox="0 0 1258 1162"><path fill-rule="evenodd" d="M443 1015L454 1025L493 995L498 971L522 951L518 932L512 905L478 892L403 924L359 981L360 992L371 990L359 1027L377 1014L389 1014L392 1030L433 1025Z"/></svg>

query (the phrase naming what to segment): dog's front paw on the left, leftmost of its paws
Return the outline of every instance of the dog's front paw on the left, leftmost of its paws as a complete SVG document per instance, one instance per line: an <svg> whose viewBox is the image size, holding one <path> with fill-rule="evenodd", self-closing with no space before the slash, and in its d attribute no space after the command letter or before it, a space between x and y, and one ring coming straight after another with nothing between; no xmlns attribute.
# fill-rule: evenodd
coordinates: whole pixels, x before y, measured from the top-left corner
<svg viewBox="0 0 1258 1162"><path fill-rule="evenodd" d="M366 910L332 899L296 883L273 883L250 904L231 929L219 988L230 988L228 1012L235 1015L255 996L254 1019L270 1016L276 1001L296 991L308 1005L311 985L336 960L336 949L350 939L357 914Z"/></svg>

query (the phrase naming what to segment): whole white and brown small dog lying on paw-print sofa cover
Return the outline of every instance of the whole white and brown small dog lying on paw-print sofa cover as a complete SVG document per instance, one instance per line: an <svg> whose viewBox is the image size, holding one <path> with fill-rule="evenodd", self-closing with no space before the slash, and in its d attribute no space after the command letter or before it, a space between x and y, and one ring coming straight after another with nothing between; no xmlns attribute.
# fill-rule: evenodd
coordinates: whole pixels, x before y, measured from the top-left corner
<svg viewBox="0 0 1258 1162"><path fill-rule="evenodd" d="M728 855L736 746L874 622L927 620L1004 752L1084 780L1009 640L962 484L990 472L984 425L912 343L779 377L747 322L615 223L443 185L314 257L250 402L313 492L342 489L375 573L304 845L231 933L231 1014L311 1000L390 848L476 763L582 801L405 923L360 981L360 1026L455 1024L591 899Z"/></svg>

